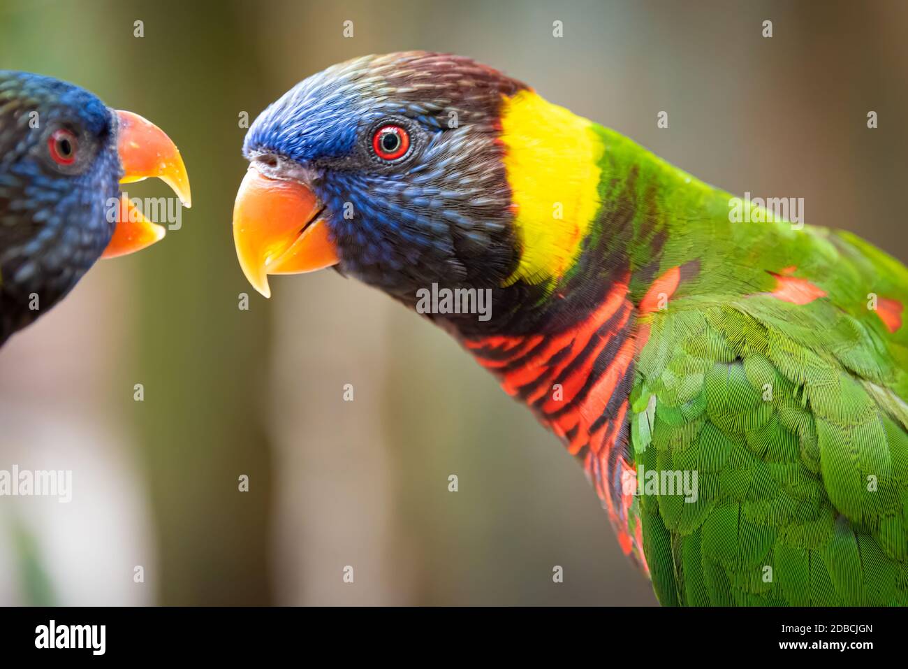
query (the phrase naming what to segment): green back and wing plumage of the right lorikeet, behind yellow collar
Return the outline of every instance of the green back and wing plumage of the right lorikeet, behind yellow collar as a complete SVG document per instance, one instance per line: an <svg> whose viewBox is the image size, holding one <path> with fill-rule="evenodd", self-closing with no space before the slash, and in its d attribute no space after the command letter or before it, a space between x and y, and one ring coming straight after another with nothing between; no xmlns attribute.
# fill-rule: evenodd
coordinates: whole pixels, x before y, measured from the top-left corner
<svg viewBox="0 0 908 669"><path fill-rule="evenodd" d="M698 474L696 502L644 494L629 518L660 601L908 604L908 332L872 308L901 311L908 271L848 233L732 223L731 195L597 133L631 301L684 268L638 315L630 396L637 467Z"/></svg>

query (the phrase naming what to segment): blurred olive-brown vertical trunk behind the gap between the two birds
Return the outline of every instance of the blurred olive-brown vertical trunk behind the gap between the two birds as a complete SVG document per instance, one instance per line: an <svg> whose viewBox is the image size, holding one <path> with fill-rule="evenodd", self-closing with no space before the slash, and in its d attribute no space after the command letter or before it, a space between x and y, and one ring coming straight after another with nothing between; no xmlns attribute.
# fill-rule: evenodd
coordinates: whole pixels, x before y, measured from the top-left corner
<svg viewBox="0 0 908 669"><path fill-rule="evenodd" d="M245 170L239 118L258 112L248 102L258 99L256 54L243 49L242 15L230 5L83 8L123 23L135 108L179 145L192 182L182 229L136 256L142 295L123 370L125 384L144 389L129 409L158 533L160 574L149 580L160 604L269 604L271 450L256 398L265 395L270 319L240 309L251 289L230 232ZM133 36L139 20L142 38ZM159 186L143 184L143 195ZM249 492L239 490L242 474Z"/></svg>

